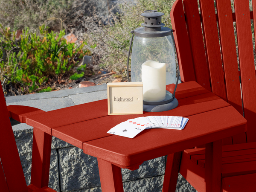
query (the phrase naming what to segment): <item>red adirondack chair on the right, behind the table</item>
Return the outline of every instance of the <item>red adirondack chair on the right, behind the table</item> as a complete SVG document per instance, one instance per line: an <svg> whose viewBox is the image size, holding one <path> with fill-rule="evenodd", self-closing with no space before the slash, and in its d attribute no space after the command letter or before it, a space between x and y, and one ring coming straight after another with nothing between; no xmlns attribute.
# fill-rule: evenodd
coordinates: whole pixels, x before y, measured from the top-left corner
<svg viewBox="0 0 256 192"><path fill-rule="evenodd" d="M230 0L199 0L199 5L198 0L176 0L172 7L181 80L197 81L233 105L247 119L247 132L223 140L221 177L205 175L205 148L185 150L182 157L180 153L169 155L163 192L175 191L178 172L199 192L256 191L256 73L251 30L256 0L252 5L250 12L249 0L234 0L234 13ZM206 189L209 178L219 179L219 185Z"/></svg>

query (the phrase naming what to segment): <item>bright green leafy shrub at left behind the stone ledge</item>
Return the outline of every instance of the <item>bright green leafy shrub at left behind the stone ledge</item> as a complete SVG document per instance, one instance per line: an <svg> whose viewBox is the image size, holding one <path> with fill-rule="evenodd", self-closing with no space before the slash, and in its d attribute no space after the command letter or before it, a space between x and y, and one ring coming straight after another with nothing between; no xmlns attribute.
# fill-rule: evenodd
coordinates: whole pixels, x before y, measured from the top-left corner
<svg viewBox="0 0 256 192"><path fill-rule="evenodd" d="M63 38L64 30L59 33L47 32L40 27L40 34L23 31L19 42L15 41L15 32L0 25L0 79L20 83L29 90L38 89L49 79L70 76L76 71L74 67L84 55L90 54L82 43L76 46ZM2 59L1 59L2 58Z"/></svg>

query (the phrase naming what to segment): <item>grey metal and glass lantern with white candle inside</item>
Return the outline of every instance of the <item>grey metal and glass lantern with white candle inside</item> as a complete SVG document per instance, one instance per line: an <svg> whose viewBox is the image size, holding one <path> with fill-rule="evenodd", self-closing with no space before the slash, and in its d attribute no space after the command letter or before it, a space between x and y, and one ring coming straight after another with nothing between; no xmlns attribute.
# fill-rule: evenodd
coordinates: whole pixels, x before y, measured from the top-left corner
<svg viewBox="0 0 256 192"><path fill-rule="evenodd" d="M164 27L161 22L163 13L147 10L141 15L145 17L145 22L141 24L143 27L131 31L127 74L135 35L131 55L131 81L143 82L143 111L168 111L178 105L175 99L178 77L176 79L172 29ZM173 94L166 90L168 84L175 84Z"/></svg>

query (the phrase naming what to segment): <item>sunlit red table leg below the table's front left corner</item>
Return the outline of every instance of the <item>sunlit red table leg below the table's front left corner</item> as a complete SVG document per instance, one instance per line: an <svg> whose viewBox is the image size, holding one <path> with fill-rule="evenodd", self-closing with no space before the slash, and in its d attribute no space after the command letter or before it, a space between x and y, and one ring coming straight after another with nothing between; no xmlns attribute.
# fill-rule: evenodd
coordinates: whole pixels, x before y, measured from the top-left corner
<svg viewBox="0 0 256 192"><path fill-rule="evenodd" d="M121 168L98 158L102 192L123 192Z"/></svg>

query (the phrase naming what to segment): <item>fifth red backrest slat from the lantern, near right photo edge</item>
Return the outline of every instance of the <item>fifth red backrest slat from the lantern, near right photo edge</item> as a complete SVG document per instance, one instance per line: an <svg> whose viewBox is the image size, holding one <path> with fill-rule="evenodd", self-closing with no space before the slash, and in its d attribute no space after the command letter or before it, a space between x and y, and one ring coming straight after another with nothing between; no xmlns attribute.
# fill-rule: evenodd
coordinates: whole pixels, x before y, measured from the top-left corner
<svg viewBox="0 0 256 192"><path fill-rule="evenodd" d="M236 13L236 31L241 71L244 117L247 119L247 142L255 142L256 78L249 1L235 0L234 5Z"/></svg>

